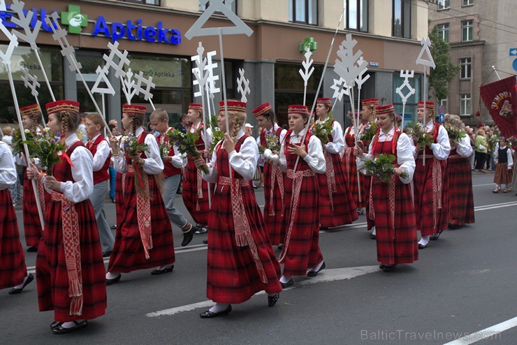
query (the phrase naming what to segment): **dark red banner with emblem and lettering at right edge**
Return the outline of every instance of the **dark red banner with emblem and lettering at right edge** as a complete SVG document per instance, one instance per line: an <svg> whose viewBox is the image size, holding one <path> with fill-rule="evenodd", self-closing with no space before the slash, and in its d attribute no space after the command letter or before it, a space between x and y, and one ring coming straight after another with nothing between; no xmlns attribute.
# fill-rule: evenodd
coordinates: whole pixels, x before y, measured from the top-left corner
<svg viewBox="0 0 517 345"><path fill-rule="evenodd" d="M511 76L479 88L490 116L505 137L517 135L516 78Z"/></svg>

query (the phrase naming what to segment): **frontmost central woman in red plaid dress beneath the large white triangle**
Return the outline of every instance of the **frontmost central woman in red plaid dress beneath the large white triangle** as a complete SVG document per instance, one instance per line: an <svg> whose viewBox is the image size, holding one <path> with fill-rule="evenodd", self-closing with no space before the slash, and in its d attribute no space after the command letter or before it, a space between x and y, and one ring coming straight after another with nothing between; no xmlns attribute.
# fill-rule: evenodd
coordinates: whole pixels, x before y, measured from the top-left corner
<svg viewBox="0 0 517 345"><path fill-rule="evenodd" d="M280 265L269 242L262 212L250 181L258 159L255 139L244 133L246 103L226 101L229 133L219 142L203 179L217 182L208 221L207 297L216 304L201 318L228 314L231 303L242 303L258 291L268 293L272 307L282 292ZM219 103L219 128L226 131L224 101ZM229 165L231 165L231 172Z"/></svg>

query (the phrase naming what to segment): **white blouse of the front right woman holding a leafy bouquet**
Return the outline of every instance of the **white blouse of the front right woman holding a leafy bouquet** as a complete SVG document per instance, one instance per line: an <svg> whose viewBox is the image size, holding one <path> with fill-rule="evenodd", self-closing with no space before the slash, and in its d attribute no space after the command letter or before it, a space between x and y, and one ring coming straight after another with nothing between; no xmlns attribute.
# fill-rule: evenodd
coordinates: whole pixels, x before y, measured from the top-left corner
<svg viewBox="0 0 517 345"><path fill-rule="evenodd" d="M391 129L388 133L384 133L384 131L379 132L379 142L385 142L393 140L393 135L395 133L395 129ZM368 147L368 152L372 152L373 145L375 142L375 138L373 138L372 142L370 142L370 147ZM405 133L400 133L397 140L397 163L398 166L407 172L407 179L399 176L399 179L402 183L408 184L413 179L413 174L415 172L415 159L413 156L414 147L412 145L412 140ZM362 156L358 156L356 158L357 168L361 170L363 174L365 170L363 170L365 166L365 161L367 159L372 159L373 154L363 153Z"/></svg>

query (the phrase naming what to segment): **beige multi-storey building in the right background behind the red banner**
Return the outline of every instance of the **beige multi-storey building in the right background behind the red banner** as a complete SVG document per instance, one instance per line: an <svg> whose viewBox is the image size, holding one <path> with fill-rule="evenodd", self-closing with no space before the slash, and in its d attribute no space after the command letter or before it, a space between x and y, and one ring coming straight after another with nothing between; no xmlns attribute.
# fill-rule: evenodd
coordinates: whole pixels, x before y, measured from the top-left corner
<svg viewBox="0 0 517 345"><path fill-rule="evenodd" d="M511 57L510 52L517 47L515 5L512 0L429 3L430 29L437 26L451 45L451 61L461 68L449 83L448 98L437 103L442 103L446 112L460 115L466 124L493 123L480 100L479 87L516 74L513 64L517 56ZM478 110L480 117L476 117Z"/></svg>

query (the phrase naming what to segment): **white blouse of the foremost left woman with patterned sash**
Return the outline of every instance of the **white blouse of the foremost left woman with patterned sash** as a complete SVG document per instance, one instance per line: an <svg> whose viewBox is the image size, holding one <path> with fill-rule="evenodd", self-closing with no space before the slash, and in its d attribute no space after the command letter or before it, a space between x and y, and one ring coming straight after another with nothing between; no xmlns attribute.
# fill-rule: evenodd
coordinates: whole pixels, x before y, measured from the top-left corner
<svg viewBox="0 0 517 345"><path fill-rule="evenodd" d="M68 138L65 139L66 147L71 147L77 141L79 141L77 134L73 133L69 135ZM61 181L59 191L72 203L80 203L88 199L94 191L92 152L89 152L89 149L83 146L75 147L70 156L70 161L73 164L71 170L75 182ZM43 177L41 183L45 184L45 177ZM45 190L48 193L52 193L50 189L45 188Z"/></svg>

